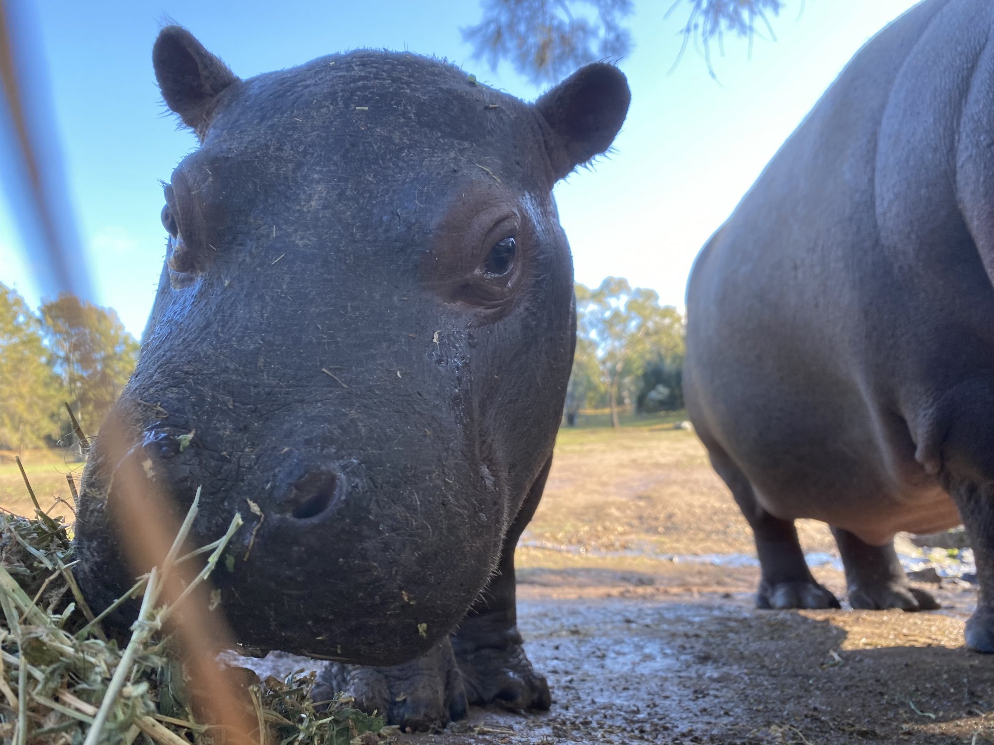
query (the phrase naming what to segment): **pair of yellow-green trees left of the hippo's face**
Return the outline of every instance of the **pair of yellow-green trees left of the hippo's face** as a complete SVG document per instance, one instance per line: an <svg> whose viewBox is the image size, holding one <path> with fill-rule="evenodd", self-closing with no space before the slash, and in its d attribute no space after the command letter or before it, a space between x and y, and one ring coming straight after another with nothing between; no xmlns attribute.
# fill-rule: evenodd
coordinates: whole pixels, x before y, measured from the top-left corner
<svg viewBox="0 0 994 745"><path fill-rule="evenodd" d="M0 450L54 445L70 431L64 403L95 432L137 355L113 310L60 295L36 314L0 284Z"/></svg>

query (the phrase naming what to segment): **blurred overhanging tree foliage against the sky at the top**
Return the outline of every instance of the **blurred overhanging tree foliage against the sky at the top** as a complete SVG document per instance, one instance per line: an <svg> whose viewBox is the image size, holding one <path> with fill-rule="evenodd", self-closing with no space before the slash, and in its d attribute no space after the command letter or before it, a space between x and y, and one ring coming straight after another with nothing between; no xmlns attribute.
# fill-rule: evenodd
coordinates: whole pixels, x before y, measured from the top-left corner
<svg viewBox="0 0 994 745"><path fill-rule="evenodd" d="M581 65L617 60L631 51L625 23L632 0L482 0L481 5L480 23L462 30L473 56L494 70L507 61L536 83L555 82ZM727 34L751 42L757 22L772 35L768 16L780 12L783 0L674 0L666 15L688 7L677 60L692 41L700 43L714 74L711 43L721 45Z"/></svg>

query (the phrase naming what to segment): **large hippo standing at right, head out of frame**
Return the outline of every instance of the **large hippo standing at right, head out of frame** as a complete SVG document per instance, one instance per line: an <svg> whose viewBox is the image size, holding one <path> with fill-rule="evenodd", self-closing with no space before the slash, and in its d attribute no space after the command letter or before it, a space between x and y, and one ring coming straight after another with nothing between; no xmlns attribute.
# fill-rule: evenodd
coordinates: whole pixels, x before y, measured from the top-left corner
<svg viewBox="0 0 994 745"><path fill-rule="evenodd" d="M686 396L752 526L761 608L935 608L893 538L964 522L994 652L994 4L925 0L853 59L703 249Z"/></svg>

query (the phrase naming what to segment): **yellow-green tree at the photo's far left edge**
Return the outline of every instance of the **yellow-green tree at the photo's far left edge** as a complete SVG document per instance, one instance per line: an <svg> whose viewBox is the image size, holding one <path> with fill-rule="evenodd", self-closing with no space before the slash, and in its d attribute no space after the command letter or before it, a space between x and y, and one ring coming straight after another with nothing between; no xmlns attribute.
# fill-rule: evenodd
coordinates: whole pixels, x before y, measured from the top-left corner
<svg viewBox="0 0 994 745"><path fill-rule="evenodd" d="M41 323L17 292L0 284L0 448L23 451L55 435L63 391Z"/></svg>

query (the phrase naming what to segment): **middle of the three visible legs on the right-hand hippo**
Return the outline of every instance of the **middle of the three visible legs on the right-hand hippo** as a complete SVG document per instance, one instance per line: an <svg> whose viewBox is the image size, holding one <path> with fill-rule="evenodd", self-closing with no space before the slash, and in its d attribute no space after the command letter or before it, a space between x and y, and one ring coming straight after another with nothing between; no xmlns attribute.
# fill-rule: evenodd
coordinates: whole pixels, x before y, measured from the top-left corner
<svg viewBox="0 0 994 745"><path fill-rule="evenodd" d="M849 602L853 608L933 611L939 607L929 593L911 587L893 542L870 545L848 530L835 526L832 534L842 554Z"/></svg>

